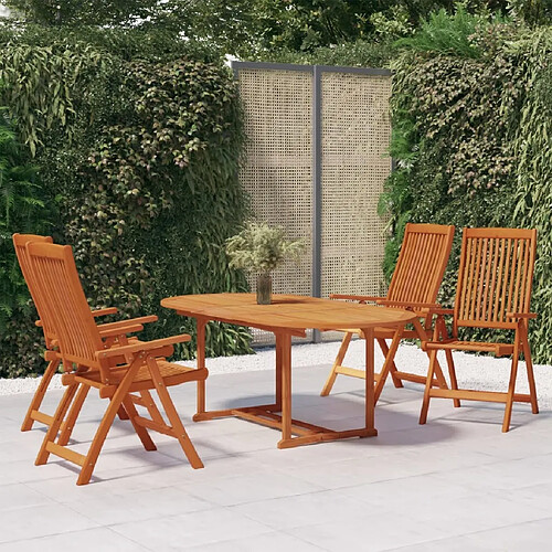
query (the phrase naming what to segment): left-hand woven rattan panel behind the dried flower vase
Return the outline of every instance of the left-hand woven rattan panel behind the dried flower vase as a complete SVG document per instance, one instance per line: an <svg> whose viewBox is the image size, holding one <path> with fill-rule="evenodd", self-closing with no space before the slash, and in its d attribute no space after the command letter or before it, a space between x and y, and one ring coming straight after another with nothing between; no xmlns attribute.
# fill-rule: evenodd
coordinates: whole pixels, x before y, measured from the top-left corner
<svg viewBox="0 0 552 552"><path fill-rule="evenodd" d="M312 76L308 72L240 70L247 136L241 181L259 220L307 242L299 264L274 273L273 291L311 295ZM255 278L250 278L255 289ZM272 333L254 330L257 344Z"/></svg>

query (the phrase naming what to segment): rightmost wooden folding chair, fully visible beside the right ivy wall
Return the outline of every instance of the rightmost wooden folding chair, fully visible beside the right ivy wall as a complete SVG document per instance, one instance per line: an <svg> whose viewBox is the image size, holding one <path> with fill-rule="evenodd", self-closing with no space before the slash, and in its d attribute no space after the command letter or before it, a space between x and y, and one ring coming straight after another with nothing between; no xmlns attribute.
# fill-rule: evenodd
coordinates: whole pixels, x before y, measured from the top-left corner
<svg viewBox="0 0 552 552"><path fill-rule="evenodd" d="M454 309L440 312L453 315L453 337L446 341L428 341L429 371L424 393L420 423L425 424L432 397L467 399L505 403L502 432L510 428L513 402L531 403L539 413L533 364L528 340L531 286L537 250L535 230L464 229L460 267ZM512 330L513 342L461 341L458 328L490 328ZM507 392L432 389L437 364L437 351L452 350L492 352L497 357L512 355L510 383ZM523 352L529 380L529 394L516 393L516 378L520 353Z"/></svg>

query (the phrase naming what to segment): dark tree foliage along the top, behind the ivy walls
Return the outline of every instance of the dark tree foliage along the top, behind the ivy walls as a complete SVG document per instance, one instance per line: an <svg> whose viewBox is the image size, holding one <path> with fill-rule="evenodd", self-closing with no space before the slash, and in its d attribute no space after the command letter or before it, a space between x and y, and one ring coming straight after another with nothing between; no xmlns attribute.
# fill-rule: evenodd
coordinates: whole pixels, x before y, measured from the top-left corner
<svg viewBox="0 0 552 552"><path fill-rule="evenodd" d="M163 29L252 56L312 53L355 41L403 36L454 0L4 0L13 18L45 26ZM551 17L550 0L464 0L473 11L500 10L531 23Z"/></svg>

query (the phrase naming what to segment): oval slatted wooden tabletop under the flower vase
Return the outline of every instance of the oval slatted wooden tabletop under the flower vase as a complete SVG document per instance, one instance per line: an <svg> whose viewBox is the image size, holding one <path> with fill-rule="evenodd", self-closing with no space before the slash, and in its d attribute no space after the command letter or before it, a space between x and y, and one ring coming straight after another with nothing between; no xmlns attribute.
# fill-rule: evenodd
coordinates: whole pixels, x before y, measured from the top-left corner
<svg viewBox="0 0 552 552"><path fill-rule="evenodd" d="M272 305L257 305L254 294L181 295L161 300L179 315L265 329L336 330L396 326L416 318L414 312L297 295L273 295Z"/></svg>

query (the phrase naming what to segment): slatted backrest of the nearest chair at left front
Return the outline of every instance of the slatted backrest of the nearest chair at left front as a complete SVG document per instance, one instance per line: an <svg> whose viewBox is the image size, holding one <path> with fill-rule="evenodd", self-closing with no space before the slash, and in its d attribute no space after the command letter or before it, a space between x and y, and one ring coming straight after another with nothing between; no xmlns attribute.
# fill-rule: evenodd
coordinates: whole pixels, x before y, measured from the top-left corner
<svg viewBox="0 0 552 552"><path fill-rule="evenodd" d="M95 353L104 348L70 245L29 242L33 279L54 322L64 367L99 368Z"/></svg>

